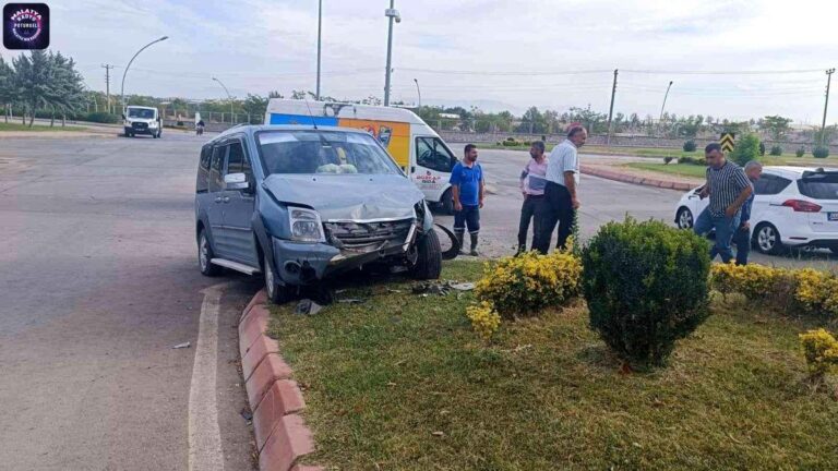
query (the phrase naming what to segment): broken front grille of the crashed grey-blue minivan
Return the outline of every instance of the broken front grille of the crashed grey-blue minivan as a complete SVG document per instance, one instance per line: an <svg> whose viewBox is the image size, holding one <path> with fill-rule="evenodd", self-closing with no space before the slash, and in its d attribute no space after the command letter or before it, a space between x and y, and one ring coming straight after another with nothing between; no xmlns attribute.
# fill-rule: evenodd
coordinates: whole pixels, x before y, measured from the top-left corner
<svg viewBox="0 0 838 471"><path fill-rule="evenodd" d="M351 251L381 250L400 245L410 233L412 219L376 222L326 222L326 238L338 249Z"/></svg>

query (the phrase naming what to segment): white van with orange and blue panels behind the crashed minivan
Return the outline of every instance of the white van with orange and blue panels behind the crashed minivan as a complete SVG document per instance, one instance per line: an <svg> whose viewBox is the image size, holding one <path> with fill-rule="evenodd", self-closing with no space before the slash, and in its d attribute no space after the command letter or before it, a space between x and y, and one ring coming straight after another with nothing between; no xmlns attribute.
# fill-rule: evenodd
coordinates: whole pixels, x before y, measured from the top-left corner
<svg viewBox="0 0 838 471"><path fill-rule="evenodd" d="M445 213L453 212L448 178L457 158L442 137L409 109L272 98L265 124L361 129L387 149L428 203Z"/></svg>

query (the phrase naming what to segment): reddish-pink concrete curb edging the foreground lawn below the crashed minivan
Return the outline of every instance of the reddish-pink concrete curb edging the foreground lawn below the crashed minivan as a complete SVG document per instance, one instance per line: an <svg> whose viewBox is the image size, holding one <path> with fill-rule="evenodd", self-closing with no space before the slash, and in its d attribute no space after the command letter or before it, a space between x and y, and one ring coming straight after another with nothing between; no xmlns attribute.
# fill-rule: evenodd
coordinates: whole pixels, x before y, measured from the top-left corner
<svg viewBox="0 0 838 471"><path fill-rule="evenodd" d="M279 343L265 335L271 313L264 290L256 293L239 319L239 351L248 402L253 411L259 469L262 471L323 471L302 466L314 451L311 431L298 413L306 408L291 369L279 355Z"/></svg>

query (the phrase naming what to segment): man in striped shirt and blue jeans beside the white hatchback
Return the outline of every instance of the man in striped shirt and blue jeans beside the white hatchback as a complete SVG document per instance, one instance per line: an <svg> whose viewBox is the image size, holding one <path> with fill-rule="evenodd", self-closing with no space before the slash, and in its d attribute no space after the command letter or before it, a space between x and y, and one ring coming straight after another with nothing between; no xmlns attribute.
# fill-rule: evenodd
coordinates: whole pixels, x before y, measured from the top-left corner
<svg viewBox="0 0 838 471"><path fill-rule="evenodd" d="M716 254L728 263L733 258L730 242L740 227L742 205L754 192L742 167L728 161L718 143L704 148L707 159L707 182L701 197L710 197L710 204L695 220L695 233L706 235L716 229L716 243L710 249L710 259Z"/></svg>

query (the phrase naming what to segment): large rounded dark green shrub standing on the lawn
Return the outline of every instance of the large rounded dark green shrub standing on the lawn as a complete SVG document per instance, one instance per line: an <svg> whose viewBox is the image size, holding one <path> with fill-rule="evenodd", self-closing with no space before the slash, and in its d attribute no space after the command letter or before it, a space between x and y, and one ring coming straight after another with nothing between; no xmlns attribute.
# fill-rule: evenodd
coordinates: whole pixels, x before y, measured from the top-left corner
<svg viewBox="0 0 838 471"><path fill-rule="evenodd" d="M708 315L709 245L662 221L608 222L583 250L590 327L620 357L660 365Z"/></svg>

